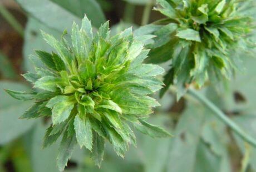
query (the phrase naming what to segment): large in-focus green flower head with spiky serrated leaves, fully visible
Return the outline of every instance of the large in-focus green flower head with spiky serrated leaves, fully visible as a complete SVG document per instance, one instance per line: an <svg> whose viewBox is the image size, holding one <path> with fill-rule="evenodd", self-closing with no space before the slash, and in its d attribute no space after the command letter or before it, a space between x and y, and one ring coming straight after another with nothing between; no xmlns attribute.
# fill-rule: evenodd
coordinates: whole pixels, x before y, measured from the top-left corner
<svg viewBox="0 0 256 172"><path fill-rule="evenodd" d="M149 50L139 41L142 38L133 36L131 28L110 37L106 22L93 37L91 23L85 17L81 29L73 24L72 45L63 37L57 41L42 34L56 53L37 50L37 57L32 57L39 58L43 65L35 68L36 73L23 76L36 91L6 91L17 99L35 100L22 118L51 117L43 146L62 135L57 157L60 170L76 143L90 150L99 166L106 140L118 155L124 156L130 143L136 145L131 125L153 137L169 136L144 121L152 113L151 108L159 105L149 94L162 87L156 75L164 69L142 63Z"/></svg>

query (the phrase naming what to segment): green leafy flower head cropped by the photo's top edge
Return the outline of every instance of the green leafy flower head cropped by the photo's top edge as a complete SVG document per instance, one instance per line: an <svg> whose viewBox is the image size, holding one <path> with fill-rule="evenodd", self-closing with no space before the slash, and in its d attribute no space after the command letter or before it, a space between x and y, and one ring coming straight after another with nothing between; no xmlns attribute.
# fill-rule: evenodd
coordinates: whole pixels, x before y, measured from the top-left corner
<svg viewBox="0 0 256 172"><path fill-rule="evenodd" d="M230 79L239 69L240 57L233 51L250 47L252 1L157 0L156 11L167 18L142 27L155 36L149 62L171 60L166 88L177 87L178 98L189 84L202 87L207 80ZM233 53L233 54L232 54Z"/></svg>

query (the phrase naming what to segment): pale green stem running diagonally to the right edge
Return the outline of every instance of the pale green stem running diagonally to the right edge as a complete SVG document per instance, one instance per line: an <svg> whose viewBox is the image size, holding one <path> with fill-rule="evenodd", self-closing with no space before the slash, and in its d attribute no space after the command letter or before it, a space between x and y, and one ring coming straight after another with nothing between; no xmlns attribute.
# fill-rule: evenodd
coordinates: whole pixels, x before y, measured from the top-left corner
<svg viewBox="0 0 256 172"><path fill-rule="evenodd" d="M245 133L237 124L235 124L231 119L229 119L216 105L210 102L209 99L199 94L193 89L188 90L188 94L199 100L202 104L206 105L211 111L214 112L216 117L222 120L225 124L228 125L236 134L238 134L244 141L256 147L256 140L252 136Z"/></svg>

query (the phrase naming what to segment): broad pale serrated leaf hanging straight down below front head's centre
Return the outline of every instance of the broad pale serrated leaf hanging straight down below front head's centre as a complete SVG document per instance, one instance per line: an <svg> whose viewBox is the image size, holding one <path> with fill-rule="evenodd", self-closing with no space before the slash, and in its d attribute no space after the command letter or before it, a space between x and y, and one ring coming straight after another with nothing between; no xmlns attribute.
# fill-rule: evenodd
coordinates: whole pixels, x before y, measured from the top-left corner
<svg viewBox="0 0 256 172"><path fill-rule="evenodd" d="M85 114L84 114L85 115ZM90 120L86 117L79 117L76 115L74 126L76 130L77 142L82 146L85 146L90 151L92 150L92 128Z"/></svg>

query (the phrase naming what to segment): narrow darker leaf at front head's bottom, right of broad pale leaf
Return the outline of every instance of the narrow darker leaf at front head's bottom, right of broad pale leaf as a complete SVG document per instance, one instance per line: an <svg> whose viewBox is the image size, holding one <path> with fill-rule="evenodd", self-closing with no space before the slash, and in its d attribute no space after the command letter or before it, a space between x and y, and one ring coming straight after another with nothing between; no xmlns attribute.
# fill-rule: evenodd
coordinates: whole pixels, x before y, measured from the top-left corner
<svg viewBox="0 0 256 172"><path fill-rule="evenodd" d="M93 132L93 146L91 152L91 158L97 166L101 166L101 162L104 156L105 140L96 132Z"/></svg>

